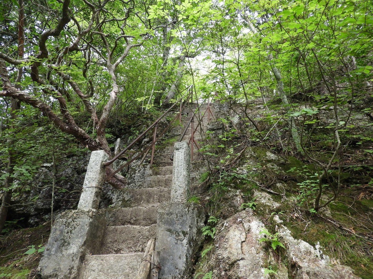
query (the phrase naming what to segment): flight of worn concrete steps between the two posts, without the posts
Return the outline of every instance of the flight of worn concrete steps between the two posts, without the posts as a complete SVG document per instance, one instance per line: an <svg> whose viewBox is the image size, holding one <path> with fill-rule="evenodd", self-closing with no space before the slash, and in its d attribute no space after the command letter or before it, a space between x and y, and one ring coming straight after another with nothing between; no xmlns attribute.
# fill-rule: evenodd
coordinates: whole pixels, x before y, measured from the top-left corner
<svg viewBox="0 0 373 279"><path fill-rule="evenodd" d="M136 278L148 240L156 237L160 206L170 201L172 166L159 167L156 173L135 173L130 189L118 190L120 203L128 207L106 210L101 251L85 257L80 279Z"/></svg>

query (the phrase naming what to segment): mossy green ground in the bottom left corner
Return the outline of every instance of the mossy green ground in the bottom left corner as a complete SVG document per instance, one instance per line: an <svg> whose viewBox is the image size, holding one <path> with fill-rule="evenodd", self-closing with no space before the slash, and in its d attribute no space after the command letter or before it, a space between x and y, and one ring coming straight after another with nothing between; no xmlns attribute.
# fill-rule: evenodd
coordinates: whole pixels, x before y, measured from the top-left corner
<svg viewBox="0 0 373 279"><path fill-rule="evenodd" d="M35 278L44 245L48 241L50 224L36 228L12 230L0 236L0 278ZM35 250L32 247L37 247ZM39 249L38 249L39 248ZM38 252L38 250L40 252Z"/></svg>

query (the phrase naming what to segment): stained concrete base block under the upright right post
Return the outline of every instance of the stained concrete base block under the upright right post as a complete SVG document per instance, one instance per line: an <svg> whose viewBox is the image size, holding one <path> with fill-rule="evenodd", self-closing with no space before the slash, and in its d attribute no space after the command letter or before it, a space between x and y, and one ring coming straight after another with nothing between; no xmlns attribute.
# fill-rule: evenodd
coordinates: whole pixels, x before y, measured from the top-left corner
<svg viewBox="0 0 373 279"><path fill-rule="evenodd" d="M160 278L189 278L204 219L203 208L194 203L171 203L159 212L155 250L161 252Z"/></svg>

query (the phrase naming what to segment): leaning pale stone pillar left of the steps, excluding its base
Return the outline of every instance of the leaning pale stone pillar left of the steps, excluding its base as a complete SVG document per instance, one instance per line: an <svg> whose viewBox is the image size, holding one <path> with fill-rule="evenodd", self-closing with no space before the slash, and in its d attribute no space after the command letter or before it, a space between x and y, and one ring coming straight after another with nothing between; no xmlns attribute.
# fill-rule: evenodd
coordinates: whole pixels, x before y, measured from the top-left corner
<svg viewBox="0 0 373 279"><path fill-rule="evenodd" d="M92 151L90 163L85 174L83 190L80 195L78 209L98 209L102 185L106 177L104 162L109 161L109 155L104 150Z"/></svg>

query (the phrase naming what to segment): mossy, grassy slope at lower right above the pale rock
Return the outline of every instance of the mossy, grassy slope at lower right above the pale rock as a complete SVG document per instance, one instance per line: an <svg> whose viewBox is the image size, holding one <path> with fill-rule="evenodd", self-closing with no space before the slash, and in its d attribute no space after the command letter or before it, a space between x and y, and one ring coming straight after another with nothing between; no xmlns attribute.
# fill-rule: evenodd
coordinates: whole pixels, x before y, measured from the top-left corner
<svg viewBox="0 0 373 279"><path fill-rule="evenodd" d="M340 196L328 208L332 216L324 218L322 215L325 214L316 214L311 218L306 211L294 208L290 203L282 203L277 211L285 212L279 218L295 239L304 240L313 246L320 243L325 254L350 266L361 278L373 279L373 243L364 235L373 230L373 224L369 224L364 217L364 214L372 215L372 209L364 202L354 202L354 199L347 196ZM268 220L270 227L275 226L272 218ZM364 225L357 225L359 223Z"/></svg>

